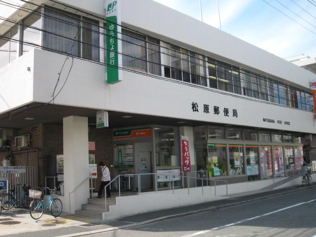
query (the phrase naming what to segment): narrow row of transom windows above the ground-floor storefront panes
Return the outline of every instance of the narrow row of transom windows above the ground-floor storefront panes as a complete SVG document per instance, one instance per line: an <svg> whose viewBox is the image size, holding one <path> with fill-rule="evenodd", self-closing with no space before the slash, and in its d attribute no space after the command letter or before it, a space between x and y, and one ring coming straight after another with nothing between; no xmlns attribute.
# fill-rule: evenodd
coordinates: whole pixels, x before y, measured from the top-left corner
<svg viewBox="0 0 316 237"><path fill-rule="evenodd" d="M302 143L302 138L297 134L257 131L235 127L198 126L194 127L195 141L207 139Z"/></svg>

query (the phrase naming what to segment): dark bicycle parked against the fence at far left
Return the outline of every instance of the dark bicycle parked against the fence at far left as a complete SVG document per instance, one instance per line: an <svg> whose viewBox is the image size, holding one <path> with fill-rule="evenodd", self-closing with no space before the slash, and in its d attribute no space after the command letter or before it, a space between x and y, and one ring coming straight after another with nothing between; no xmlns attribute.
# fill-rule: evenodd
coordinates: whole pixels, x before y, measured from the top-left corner
<svg viewBox="0 0 316 237"><path fill-rule="evenodd" d="M3 210L10 210L13 206L19 207L21 202L23 207L28 208L30 204L30 199L28 196L30 186L26 184L17 184L16 186L22 186L23 192L20 197L15 197L15 190L10 189L9 193L3 195L0 199L1 207Z"/></svg>

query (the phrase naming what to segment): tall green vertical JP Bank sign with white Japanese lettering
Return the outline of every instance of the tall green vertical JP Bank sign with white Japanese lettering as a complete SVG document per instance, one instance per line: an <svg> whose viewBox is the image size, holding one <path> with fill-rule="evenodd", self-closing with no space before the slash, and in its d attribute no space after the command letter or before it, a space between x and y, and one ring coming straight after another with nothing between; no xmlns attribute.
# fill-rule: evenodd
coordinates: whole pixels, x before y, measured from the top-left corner
<svg viewBox="0 0 316 237"><path fill-rule="evenodd" d="M108 84L114 84L122 80L121 70L118 67L122 65L121 41L118 35L121 33L120 27L120 1L106 0L106 42L107 42L107 81Z"/></svg>

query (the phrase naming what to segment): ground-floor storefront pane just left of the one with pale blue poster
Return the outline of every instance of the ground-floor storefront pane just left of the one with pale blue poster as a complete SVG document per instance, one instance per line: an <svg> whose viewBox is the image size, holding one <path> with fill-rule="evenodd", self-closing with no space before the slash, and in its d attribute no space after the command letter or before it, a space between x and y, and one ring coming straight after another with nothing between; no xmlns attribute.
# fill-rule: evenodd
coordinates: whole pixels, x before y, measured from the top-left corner
<svg viewBox="0 0 316 237"><path fill-rule="evenodd" d="M229 175L244 174L242 150L242 146L229 146Z"/></svg>

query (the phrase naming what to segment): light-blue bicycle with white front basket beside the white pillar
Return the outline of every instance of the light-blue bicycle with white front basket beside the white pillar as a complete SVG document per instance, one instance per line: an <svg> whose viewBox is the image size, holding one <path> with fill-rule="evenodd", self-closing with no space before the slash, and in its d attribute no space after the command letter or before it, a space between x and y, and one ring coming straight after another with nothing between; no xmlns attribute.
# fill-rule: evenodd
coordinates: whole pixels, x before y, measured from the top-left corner
<svg viewBox="0 0 316 237"><path fill-rule="evenodd" d="M30 204L30 215L33 219L38 220L43 215L43 212L46 212L49 208L50 213L54 217L58 217L63 210L62 201L54 197L53 192L56 191L56 188L49 189L43 188L43 191L48 189L50 195L48 197L47 203L45 203L44 199L40 199L43 192L37 190L30 190L30 197L35 198Z"/></svg>

